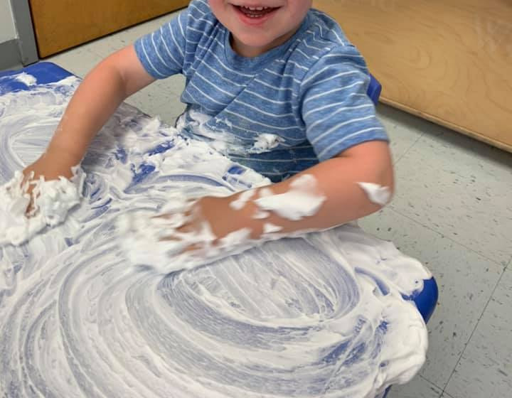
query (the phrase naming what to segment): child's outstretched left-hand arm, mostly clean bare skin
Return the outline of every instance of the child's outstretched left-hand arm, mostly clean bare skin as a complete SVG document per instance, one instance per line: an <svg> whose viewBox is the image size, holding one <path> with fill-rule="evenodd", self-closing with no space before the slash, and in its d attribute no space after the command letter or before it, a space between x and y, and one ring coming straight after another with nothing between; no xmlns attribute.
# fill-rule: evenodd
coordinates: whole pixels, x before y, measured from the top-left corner
<svg viewBox="0 0 512 398"><path fill-rule="evenodd" d="M46 152L23 173L47 180L72 176L90 141L127 97L154 81L133 45L110 55L80 84L60 120Z"/></svg>

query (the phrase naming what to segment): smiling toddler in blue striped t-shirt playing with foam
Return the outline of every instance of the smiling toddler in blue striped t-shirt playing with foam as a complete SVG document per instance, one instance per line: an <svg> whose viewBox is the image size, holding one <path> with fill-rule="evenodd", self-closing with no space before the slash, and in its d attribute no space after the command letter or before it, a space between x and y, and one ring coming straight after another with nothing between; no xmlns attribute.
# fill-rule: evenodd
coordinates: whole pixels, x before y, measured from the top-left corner
<svg viewBox="0 0 512 398"><path fill-rule="evenodd" d="M124 99L177 73L186 77L181 133L210 141L273 182L270 190L197 200L182 232L208 222L215 237L248 228L258 239L265 225L284 234L326 229L388 202L393 165L366 95L366 63L332 18L311 9L311 0L191 1L85 77L25 176L70 178ZM264 213L258 204L301 189L322 198L302 217Z"/></svg>

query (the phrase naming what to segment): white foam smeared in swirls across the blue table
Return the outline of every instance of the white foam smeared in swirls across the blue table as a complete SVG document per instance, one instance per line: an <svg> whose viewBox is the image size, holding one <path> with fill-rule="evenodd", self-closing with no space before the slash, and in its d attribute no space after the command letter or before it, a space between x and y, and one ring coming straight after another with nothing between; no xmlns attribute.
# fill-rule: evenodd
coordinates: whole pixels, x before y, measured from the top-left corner
<svg viewBox="0 0 512 398"><path fill-rule="evenodd" d="M0 95L0 184L41 155L78 82ZM425 362L425 324L403 297L430 273L392 243L345 225L187 271L131 267L120 216L270 181L128 105L82 168L84 197L63 223L0 247L1 392L373 398Z"/></svg>

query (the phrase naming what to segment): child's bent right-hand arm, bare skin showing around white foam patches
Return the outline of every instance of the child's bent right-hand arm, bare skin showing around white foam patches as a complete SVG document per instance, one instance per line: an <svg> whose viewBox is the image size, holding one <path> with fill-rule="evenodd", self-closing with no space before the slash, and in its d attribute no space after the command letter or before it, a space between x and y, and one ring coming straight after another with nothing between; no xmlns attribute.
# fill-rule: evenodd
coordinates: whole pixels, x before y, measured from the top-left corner
<svg viewBox="0 0 512 398"><path fill-rule="evenodd" d="M196 214L201 216L183 230L194 230L195 226L198 227L205 220L210 223L218 238L242 228L250 228L252 238L257 239L264 232L264 225L267 223L282 227L279 233L284 234L311 229L324 230L369 215L383 207L385 203L373 203L358 183L375 183L388 187L390 195L394 190L393 163L388 143L385 141L368 141L353 146L343 154L268 188L274 195L286 193L293 181L304 174L316 178L316 193L326 199L314 215L292 221L270 212L265 219L255 219L254 216L260 211L255 203L259 198L259 189L241 210L230 206L240 193L228 198L207 197L198 200Z"/></svg>

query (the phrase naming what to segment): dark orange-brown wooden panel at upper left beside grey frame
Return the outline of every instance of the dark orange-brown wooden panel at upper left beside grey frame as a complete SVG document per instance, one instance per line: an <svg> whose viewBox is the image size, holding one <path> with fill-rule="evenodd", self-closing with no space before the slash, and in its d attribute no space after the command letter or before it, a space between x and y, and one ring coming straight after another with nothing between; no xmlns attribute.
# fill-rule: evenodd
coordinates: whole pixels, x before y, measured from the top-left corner
<svg viewBox="0 0 512 398"><path fill-rule="evenodd" d="M41 58L180 9L188 0L30 0Z"/></svg>

